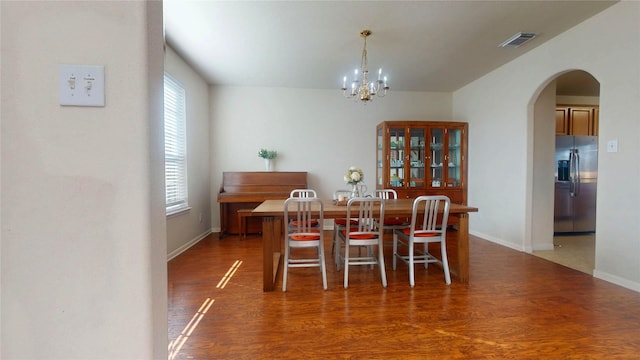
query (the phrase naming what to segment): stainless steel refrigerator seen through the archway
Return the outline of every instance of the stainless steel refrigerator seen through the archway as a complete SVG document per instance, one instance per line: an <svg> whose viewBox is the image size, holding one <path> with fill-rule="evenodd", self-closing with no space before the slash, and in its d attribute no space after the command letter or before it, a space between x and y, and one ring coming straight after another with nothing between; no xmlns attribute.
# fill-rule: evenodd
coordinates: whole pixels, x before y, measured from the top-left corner
<svg viewBox="0 0 640 360"><path fill-rule="evenodd" d="M554 233L596 231L598 137L556 136Z"/></svg>

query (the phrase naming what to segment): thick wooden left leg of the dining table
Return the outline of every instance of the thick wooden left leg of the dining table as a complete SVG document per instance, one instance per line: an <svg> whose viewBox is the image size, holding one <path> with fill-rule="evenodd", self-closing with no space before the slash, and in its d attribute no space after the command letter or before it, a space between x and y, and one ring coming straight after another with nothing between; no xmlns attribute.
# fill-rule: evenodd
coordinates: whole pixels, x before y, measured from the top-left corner
<svg viewBox="0 0 640 360"><path fill-rule="evenodd" d="M273 291L280 268L281 228L278 218L262 218L262 290Z"/></svg>

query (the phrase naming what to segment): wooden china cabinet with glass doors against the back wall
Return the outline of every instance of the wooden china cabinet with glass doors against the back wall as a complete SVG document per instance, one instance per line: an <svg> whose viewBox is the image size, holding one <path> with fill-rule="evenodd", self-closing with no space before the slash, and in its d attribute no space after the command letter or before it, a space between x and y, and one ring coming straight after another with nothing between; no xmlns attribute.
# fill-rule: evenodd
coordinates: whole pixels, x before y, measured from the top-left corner
<svg viewBox="0 0 640 360"><path fill-rule="evenodd" d="M402 198L443 194L467 203L468 124L385 121L376 128L376 188Z"/></svg>

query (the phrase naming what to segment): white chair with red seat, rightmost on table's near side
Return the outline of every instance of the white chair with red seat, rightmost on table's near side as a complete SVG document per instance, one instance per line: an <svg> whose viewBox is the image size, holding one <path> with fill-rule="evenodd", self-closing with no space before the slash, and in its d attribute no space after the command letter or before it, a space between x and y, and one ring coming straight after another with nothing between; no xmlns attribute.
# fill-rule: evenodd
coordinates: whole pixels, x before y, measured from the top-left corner
<svg viewBox="0 0 640 360"><path fill-rule="evenodd" d="M447 260L447 219L451 201L444 195L419 196L413 201L411 225L405 229L397 229L393 240L393 270L396 260L400 259L409 265L409 284L415 286L414 264L439 263L444 270L444 280L451 284L449 261ZM440 210L442 208L442 210ZM440 214L440 215L439 215ZM442 260L429 253L429 244L439 243ZM398 252L398 244L407 247L407 255ZM416 249L417 244L423 244L424 250Z"/></svg>

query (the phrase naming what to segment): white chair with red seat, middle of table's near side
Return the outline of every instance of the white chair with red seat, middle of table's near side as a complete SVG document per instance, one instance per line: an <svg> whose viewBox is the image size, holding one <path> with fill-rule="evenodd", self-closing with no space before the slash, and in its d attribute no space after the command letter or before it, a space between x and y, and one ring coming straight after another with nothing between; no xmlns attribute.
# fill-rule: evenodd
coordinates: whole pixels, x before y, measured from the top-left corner
<svg viewBox="0 0 640 360"><path fill-rule="evenodd" d="M376 212L378 215L376 215ZM347 219L355 218L356 225L346 226L340 231L336 249L336 266L340 270L340 265L344 263L344 288L349 287L349 266L350 265L378 265L380 268L380 280L382 287L387 287L387 274L384 266L384 253L382 246L383 230L379 224L384 219L384 200L380 198L352 198L347 202ZM344 253L341 252L344 244ZM374 254L374 247L377 246L377 255ZM366 254L351 254L351 249L357 247L366 248Z"/></svg>

